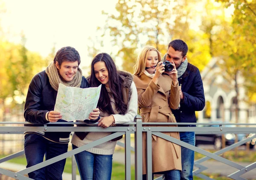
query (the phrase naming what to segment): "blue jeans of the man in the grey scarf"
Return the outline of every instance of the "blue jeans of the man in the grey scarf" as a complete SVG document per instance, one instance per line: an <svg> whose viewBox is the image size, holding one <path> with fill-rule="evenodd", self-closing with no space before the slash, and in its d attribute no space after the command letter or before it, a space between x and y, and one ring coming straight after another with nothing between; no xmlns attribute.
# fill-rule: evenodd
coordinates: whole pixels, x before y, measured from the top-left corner
<svg viewBox="0 0 256 180"><path fill-rule="evenodd" d="M195 132L180 132L180 140L195 146ZM194 156L194 151L181 146L180 180L193 180Z"/></svg>

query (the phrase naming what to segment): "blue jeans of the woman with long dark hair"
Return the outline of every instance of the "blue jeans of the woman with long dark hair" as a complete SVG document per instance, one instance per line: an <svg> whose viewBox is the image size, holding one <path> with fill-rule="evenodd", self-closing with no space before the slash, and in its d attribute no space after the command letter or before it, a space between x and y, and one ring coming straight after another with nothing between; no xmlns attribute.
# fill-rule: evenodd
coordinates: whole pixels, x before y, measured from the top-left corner
<svg viewBox="0 0 256 180"><path fill-rule="evenodd" d="M72 146L73 149L78 148ZM113 154L101 155L88 151L75 154L81 180L111 180L112 157Z"/></svg>

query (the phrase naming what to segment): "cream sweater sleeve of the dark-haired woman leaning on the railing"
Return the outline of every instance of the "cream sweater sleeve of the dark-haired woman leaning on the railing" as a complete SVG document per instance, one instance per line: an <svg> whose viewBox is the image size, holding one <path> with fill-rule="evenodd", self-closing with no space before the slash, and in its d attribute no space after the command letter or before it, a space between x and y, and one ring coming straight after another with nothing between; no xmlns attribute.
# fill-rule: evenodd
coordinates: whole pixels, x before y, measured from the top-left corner
<svg viewBox="0 0 256 180"><path fill-rule="evenodd" d="M134 122L134 117L137 115L138 96L134 82L131 83L131 98L128 103L128 111L126 114L112 114L115 119L115 124Z"/></svg>

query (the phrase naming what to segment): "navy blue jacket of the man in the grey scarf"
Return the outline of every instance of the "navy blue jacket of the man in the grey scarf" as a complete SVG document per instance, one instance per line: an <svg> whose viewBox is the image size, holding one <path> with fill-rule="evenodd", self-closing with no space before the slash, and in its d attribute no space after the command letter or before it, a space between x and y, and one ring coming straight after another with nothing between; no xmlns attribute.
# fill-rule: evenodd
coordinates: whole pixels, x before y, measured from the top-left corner
<svg viewBox="0 0 256 180"><path fill-rule="evenodd" d="M183 92L183 100L180 100L180 109L172 112L177 123L196 123L195 111L201 111L205 106L204 87L199 69L188 63L186 71L178 81Z"/></svg>

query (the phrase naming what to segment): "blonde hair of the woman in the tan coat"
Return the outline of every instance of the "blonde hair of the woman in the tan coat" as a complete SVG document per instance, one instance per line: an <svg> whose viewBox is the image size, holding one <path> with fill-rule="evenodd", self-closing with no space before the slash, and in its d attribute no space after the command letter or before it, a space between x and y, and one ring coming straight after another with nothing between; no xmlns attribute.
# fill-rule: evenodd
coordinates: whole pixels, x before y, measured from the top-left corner
<svg viewBox="0 0 256 180"><path fill-rule="evenodd" d="M134 75L141 76L146 68L146 60L148 58L149 51L156 51L158 55L158 61L161 61L160 52L155 49L153 46L145 46L140 51L140 55L137 57L137 62L134 65Z"/></svg>

